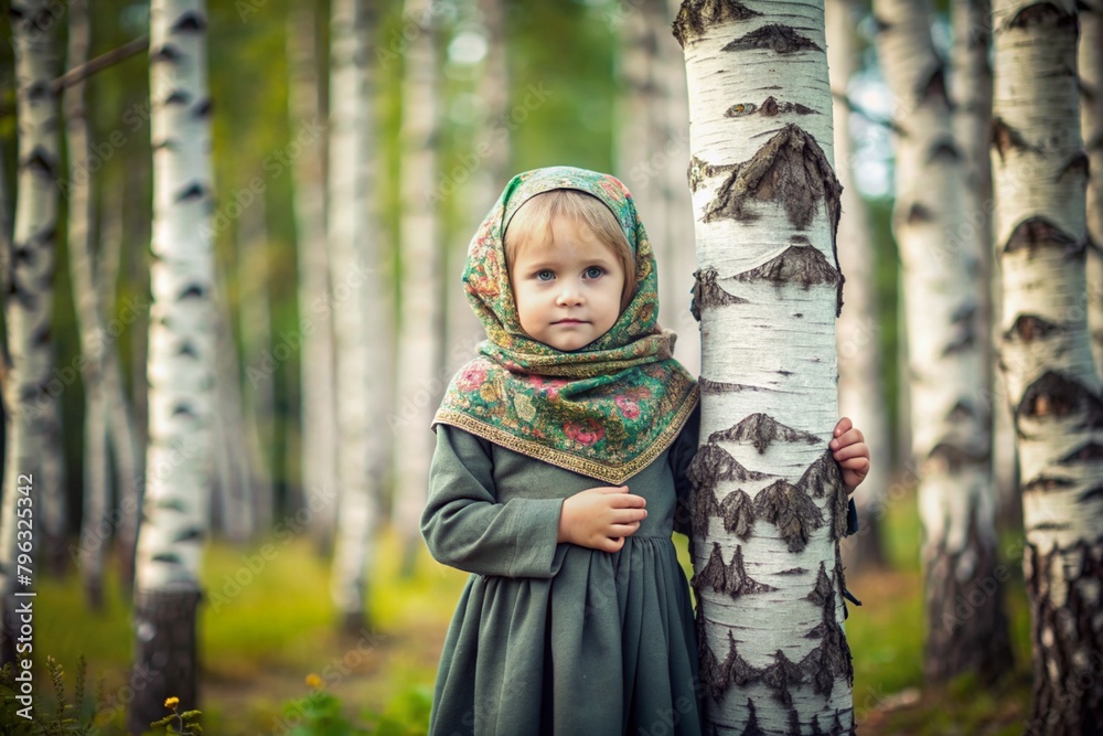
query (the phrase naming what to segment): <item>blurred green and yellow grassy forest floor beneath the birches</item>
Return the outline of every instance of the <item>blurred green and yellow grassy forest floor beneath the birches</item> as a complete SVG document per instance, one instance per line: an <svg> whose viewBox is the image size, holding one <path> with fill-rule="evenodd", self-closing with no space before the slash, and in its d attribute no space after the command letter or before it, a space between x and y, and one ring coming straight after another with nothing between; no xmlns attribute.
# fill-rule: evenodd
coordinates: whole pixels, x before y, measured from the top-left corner
<svg viewBox="0 0 1103 736"><path fill-rule="evenodd" d="M891 572L850 574L863 599L846 623L854 655L855 716L861 734L1021 734L1029 715L1028 611L1019 561L1007 585L1016 665L993 687L972 678L925 685L919 522L914 499L891 504L887 522ZM893 513L895 510L895 513ZM676 537L681 540L681 537ZM681 540L684 542L684 540ZM384 536L372 589L372 632L338 634L328 569L304 538L261 541L240 550L212 545L205 558L206 601L200 621L202 722L208 735L285 736L301 715L308 674L340 697L347 716L378 734L422 734L445 631L465 575L422 550L415 575L398 574L399 544ZM1008 542L1005 540L1005 542ZM269 547L265 547L269 544ZM1015 548L1015 540L1003 547ZM684 545L681 550L685 559ZM87 611L76 578L40 586L35 651L54 657L71 681L79 655L88 691L103 682L101 733L122 733L132 646L129 606L108 579L108 605ZM74 611L87 611L74 616ZM47 678L36 707L50 707ZM72 691L71 691L72 692ZM90 696L88 710L90 710Z"/></svg>

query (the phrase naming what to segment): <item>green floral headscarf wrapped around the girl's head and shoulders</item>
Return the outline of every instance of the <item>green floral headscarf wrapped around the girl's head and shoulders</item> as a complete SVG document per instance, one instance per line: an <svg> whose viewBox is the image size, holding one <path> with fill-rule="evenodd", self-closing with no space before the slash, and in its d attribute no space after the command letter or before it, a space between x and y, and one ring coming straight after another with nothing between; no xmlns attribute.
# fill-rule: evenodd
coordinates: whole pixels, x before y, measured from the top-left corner
<svg viewBox="0 0 1103 736"><path fill-rule="evenodd" d="M612 211L635 256L635 291L613 327L571 352L521 328L503 235L536 194L572 189ZM523 455L618 484L677 437L697 386L671 356L673 335L656 326L655 257L632 195L620 181L572 167L514 177L468 248L463 281L486 329L479 356L452 378L432 427L448 424Z"/></svg>

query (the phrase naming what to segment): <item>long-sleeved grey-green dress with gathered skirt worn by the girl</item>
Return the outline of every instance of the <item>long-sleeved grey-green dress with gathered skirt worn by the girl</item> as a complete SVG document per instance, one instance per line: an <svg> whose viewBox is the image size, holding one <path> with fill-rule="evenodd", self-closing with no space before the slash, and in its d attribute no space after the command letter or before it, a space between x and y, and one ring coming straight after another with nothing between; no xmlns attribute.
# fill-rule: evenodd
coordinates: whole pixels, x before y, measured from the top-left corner
<svg viewBox="0 0 1103 736"><path fill-rule="evenodd" d="M699 408L625 482L647 518L615 553L556 542L564 499L608 483L437 426L421 532L435 558L473 575L445 641L430 734L702 732L689 589L671 541L676 512L688 519L679 500L698 424Z"/></svg>

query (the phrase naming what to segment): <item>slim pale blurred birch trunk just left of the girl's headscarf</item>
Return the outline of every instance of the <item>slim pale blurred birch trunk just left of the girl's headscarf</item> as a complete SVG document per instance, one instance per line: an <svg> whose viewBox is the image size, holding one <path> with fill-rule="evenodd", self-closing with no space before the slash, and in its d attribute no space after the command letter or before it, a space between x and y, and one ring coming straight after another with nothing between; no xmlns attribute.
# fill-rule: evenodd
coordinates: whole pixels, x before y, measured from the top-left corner
<svg viewBox="0 0 1103 736"><path fill-rule="evenodd" d="M431 192L439 138L436 19L439 0L406 0L405 18L418 32L406 51L401 119L401 331L398 341L398 442L395 523L409 575L422 547L418 519L429 488L433 410L443 394L440 224Z"/></svg>

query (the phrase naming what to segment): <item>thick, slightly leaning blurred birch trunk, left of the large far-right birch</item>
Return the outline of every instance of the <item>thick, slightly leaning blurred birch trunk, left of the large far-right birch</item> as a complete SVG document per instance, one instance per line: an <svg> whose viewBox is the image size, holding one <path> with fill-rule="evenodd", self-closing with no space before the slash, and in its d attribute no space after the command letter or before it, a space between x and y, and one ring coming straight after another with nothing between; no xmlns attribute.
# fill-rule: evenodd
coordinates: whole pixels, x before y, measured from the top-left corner
<svg viewBox="0 0 1103 736"><path fill-rule="evenodd" d="M1009 668L1010 644L1006 568L996 559L979 243L960 236L965 171L929 4L875 0L874 12L881 68L897 99L892 217L923 524L924 670L932 680L975 671L992 681Z"/></svg>

